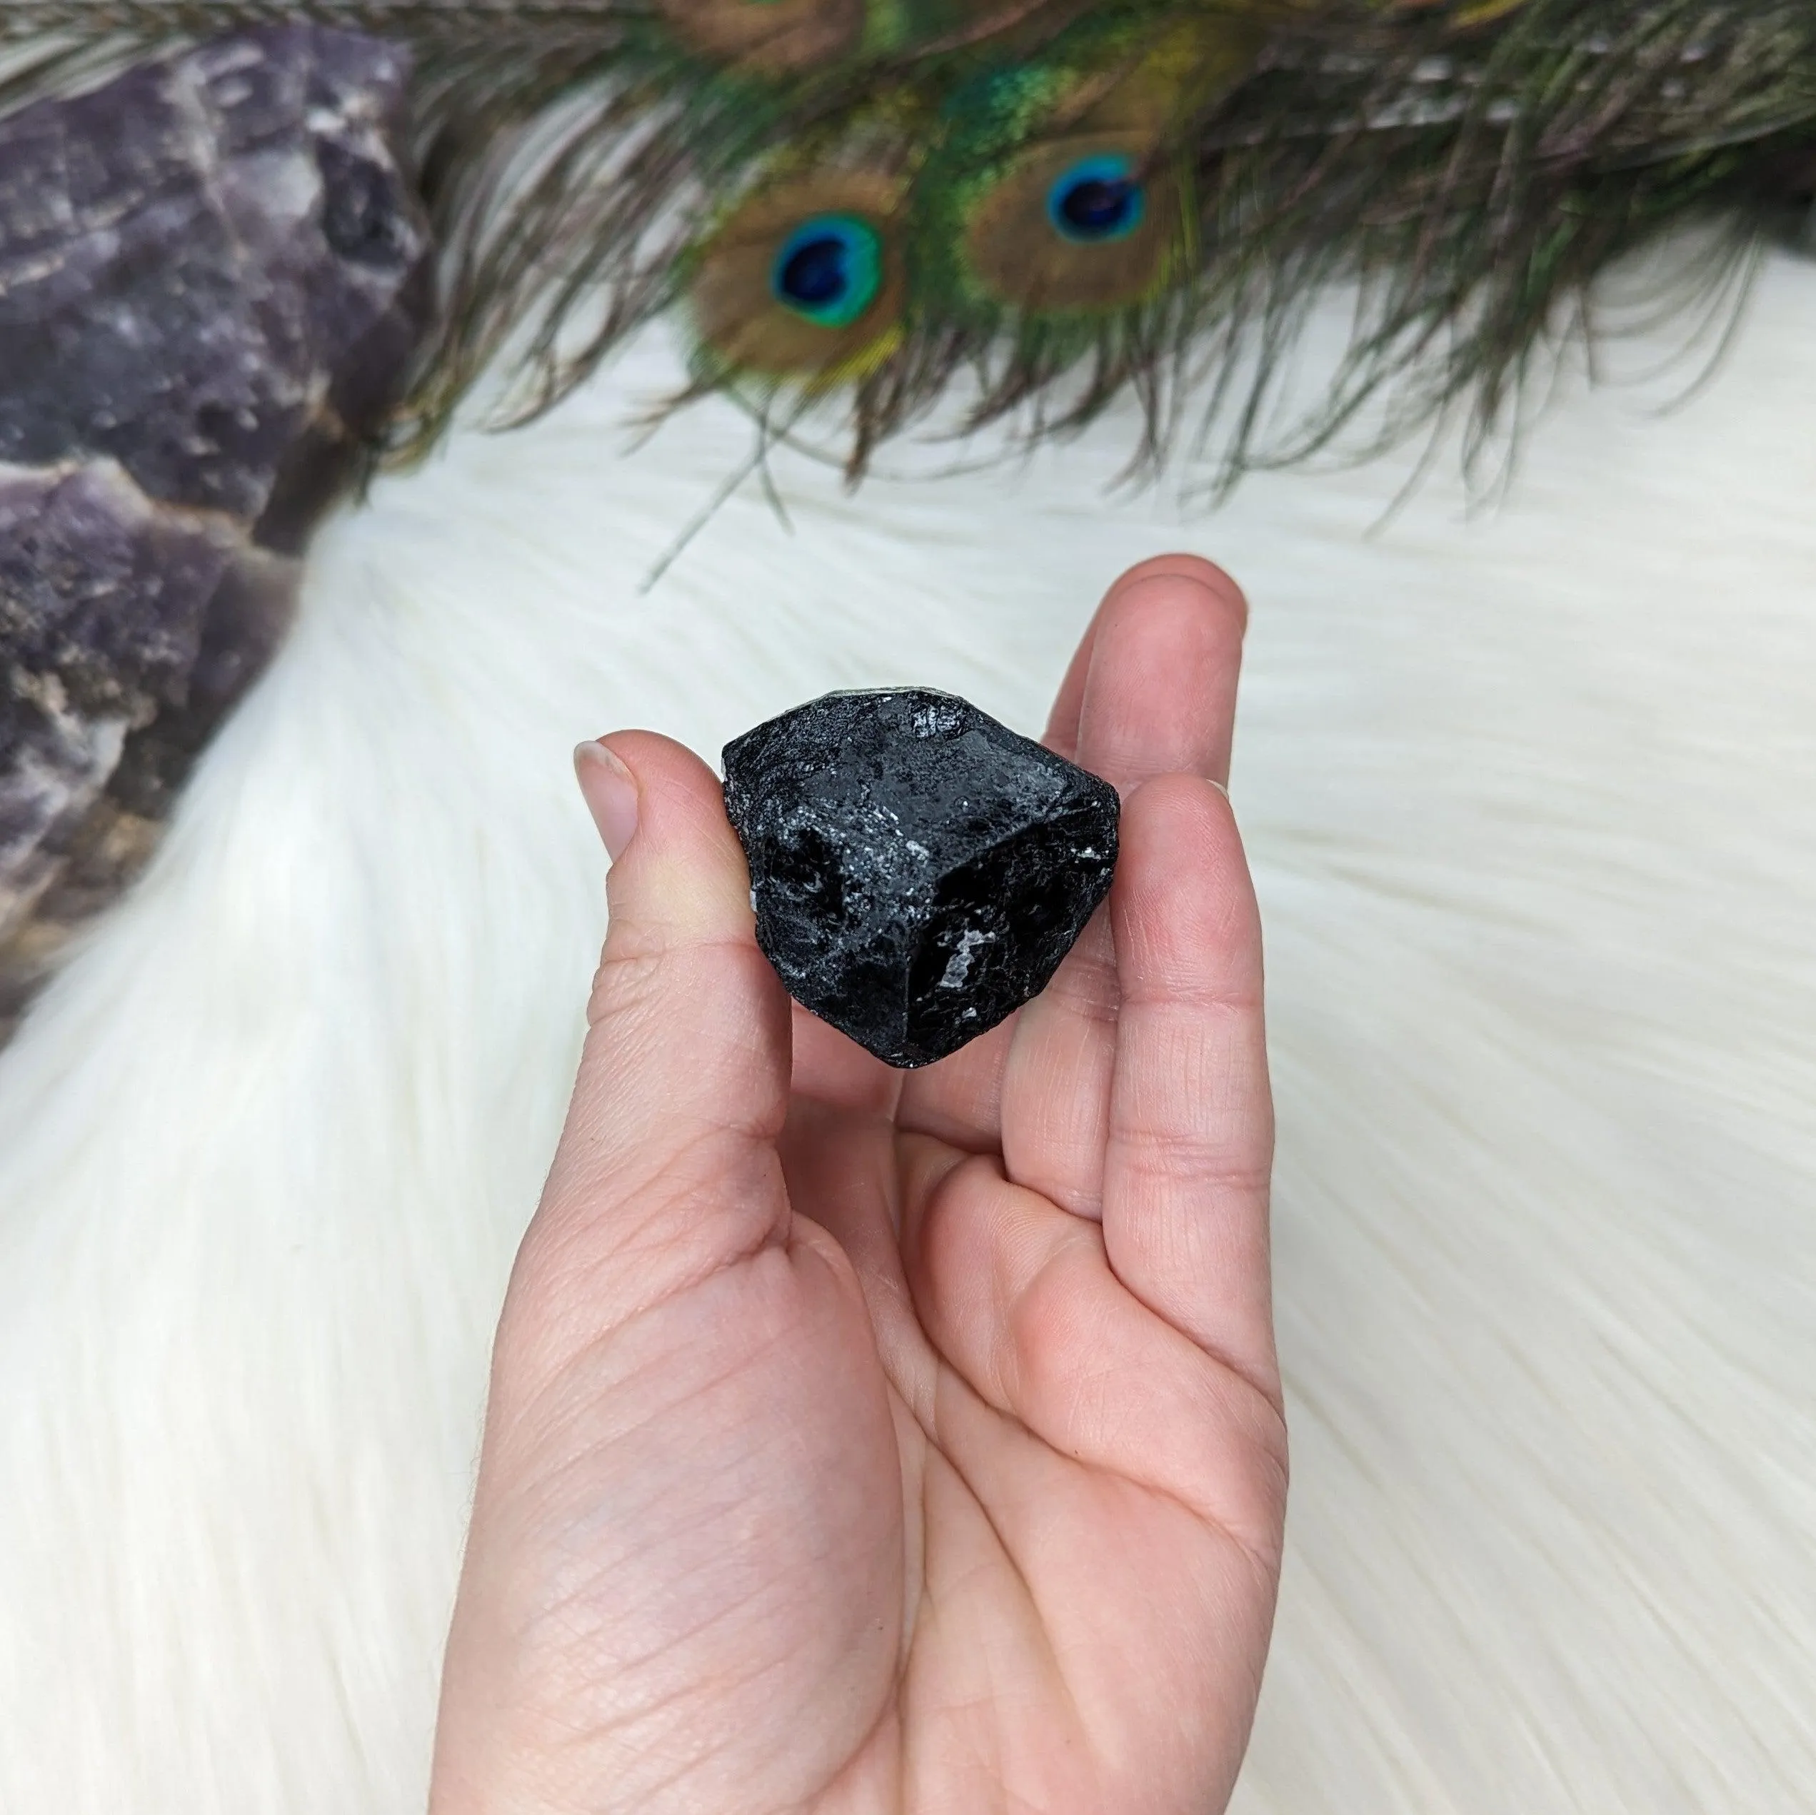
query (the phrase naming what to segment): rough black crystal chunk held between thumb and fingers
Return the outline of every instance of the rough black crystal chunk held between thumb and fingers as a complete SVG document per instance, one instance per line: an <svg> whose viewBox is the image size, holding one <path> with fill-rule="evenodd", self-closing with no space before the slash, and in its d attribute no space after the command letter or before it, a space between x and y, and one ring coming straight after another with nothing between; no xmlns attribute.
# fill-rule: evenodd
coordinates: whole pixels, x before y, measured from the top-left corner
<svg viewBox="0 0 1816 1815"><path fill-rule="evenodd" d="M757 944L892 1065L995 1027L1059 969L1117 860L1117 791L950 693L828 693L725 746Z"/></svg>

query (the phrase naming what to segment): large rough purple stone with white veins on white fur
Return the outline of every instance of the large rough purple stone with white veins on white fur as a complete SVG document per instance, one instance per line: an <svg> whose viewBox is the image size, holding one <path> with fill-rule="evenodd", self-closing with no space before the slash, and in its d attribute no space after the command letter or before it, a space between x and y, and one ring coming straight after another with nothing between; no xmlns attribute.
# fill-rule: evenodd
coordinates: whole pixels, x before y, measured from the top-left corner
<svg viewBox="0 0 1816 1815"><path fill-rule="evenodd" d="M283 25L0 118L0 1038L276 650L403 379L407 76Z"/></svg>

